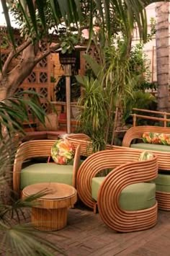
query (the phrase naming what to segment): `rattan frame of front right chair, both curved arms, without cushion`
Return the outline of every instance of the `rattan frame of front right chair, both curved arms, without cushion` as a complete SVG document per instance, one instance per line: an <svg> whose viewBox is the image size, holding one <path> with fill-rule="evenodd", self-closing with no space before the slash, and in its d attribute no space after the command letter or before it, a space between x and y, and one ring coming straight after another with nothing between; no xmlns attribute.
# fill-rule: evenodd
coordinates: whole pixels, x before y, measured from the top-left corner
<svg viewBox="0 0 170 256"><path fill-rule="evenodd" d="M89 208L94 208L91 198L91 180L103 169L113 169L104 178L99 189L97 204L99 214L107 226L116 231L129 232L148 229L156 224L157 203L145 210L124 211L119 206L119 197L128 185L153 180L158 175L157 157L138 161L138 151L105 150L89 156L77 173L79 198Z"/></svg>

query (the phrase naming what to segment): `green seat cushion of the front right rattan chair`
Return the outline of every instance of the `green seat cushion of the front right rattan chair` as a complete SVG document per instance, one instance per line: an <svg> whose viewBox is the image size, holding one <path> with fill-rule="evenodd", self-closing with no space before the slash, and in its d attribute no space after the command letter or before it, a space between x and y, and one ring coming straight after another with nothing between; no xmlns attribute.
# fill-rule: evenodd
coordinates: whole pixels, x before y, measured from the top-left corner
<svg viewBox="0 0 170 256"><path fill-rule="evenodd" d="M91 195L97 201L99 187L104 177L94 177L91 182ZM128 185L120 194L120 208L125 211L139 211L156 204L156 185L154 183L137 183Z"/></svg>

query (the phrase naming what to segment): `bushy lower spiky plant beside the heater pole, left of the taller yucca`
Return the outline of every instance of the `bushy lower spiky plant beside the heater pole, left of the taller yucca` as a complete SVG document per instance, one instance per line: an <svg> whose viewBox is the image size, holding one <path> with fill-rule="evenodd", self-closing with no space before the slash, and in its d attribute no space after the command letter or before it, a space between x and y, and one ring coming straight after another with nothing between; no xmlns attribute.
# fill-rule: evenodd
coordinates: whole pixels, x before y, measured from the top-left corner
<svg viewBox="0 0 170 256"><path fill-rule="evenodd" d="M91 60L91 57L86 57ZM95 66L93 62L93 65ZM97 66L96 66L97 68ZM97 74L97 69L94 69ZM107 123L107 98L99 77L94 79L88 76L76 76L84 92L78 101L81 110L79 120L81 125L78 131L83 131L91 137L93 150L104 149L106 141L104 140L104 129Z"/></svg>

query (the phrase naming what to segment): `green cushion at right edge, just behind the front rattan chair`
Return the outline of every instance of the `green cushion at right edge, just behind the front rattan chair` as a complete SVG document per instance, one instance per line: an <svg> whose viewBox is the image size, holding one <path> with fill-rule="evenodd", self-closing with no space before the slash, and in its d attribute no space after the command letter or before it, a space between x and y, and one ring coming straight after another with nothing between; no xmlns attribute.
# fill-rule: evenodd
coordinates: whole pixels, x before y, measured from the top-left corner
<svg viewBox="0 0 170 256"><path fill-rule="evenodd" d="M158 177L153 180L156 183L156 190L161 192L169 192L170 193L170 173L162 174L159 173Z"/></svg>

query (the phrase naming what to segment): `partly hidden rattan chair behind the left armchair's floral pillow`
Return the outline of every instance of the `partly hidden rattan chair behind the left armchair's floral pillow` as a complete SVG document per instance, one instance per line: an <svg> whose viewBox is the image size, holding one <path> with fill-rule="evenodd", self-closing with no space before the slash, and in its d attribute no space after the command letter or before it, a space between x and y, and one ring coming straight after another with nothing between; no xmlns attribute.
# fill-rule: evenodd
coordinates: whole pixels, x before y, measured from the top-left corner
<svg viewBox="0 0 170 256"><path fill-rule="evenodd" d="M92 149L92 143L91 143L91 138L87 136L84 133L74 133L70 134L66 137L68 141L73 144L73 146L76 147L80 144L81 145L81 156L90 156L93 154L93 149ZM112 146L107 145L106 149L111 149Z"/></svg>

